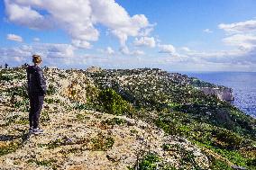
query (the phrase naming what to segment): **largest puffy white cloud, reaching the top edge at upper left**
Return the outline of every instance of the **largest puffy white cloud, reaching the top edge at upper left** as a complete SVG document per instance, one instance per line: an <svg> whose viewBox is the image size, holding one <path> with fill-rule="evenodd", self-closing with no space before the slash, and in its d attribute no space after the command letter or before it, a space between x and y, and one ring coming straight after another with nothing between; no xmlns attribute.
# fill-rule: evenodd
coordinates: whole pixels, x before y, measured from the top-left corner
<svg viewBox="0 0 256 170"><path fill-rule="evenodd" d="M74 46L86 49L99 38L96 24L109 29L122 46L129 36L145 35L152 29L145 15L130 16L114 0L5 0L5 12L10 22L32 29L58 26L69 33Z"/></svg>

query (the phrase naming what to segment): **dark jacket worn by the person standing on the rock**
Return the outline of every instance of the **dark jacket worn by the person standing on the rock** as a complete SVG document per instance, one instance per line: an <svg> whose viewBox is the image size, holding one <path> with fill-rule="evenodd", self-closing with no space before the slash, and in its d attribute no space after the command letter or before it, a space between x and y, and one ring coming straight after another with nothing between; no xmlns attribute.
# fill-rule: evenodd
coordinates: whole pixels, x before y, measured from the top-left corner
<svg viewBox="0 0 256 170"><path fill-rule="evenodd" d="M27 84L28 94L44 95L46 94L47 86L46 80L43 76L42 70L38 66L27 67Z"/></svg>

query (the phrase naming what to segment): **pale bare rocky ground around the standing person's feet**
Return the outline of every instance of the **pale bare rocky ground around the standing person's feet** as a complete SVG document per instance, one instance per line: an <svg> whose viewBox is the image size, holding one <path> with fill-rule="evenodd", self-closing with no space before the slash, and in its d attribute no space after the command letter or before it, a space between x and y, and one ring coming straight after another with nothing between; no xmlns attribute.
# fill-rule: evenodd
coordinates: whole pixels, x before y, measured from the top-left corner
<svg viewBox="0 0 256 170"><path fill-rule="evenodd" d="M149 153L160 157L156 163L159 167L209 167L208 158L185 138L168 135L137 119L77 109L74 101L87 101L90 80L76 72L45 71L54 89L46 95L41 112L45 132L27 139L28 101L23 76L24 70L2 75L0 169L123 170L138 165ZM86 83L75 85L75 80ZM71 95L74 86L80 93ZM195 162L182 163L186 159Z"/></svg>

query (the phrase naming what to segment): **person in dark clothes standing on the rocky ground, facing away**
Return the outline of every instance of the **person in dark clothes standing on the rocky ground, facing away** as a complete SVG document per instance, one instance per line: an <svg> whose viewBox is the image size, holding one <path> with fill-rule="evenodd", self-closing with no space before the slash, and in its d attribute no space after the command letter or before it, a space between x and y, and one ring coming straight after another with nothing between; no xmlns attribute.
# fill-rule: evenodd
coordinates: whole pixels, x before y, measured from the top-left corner
<svg viewBox="0 0 256 170"><path fill-rule="evenodd" d="M44 95L46 94L46 80L43 76L42 70L39 67L41 64L41 57L39 55L32 56L33 66L27 67L28 80L28 95L30 99L30 129L29 132L33 134L43 133L39 128L39 118L41 114Z"/></svg>

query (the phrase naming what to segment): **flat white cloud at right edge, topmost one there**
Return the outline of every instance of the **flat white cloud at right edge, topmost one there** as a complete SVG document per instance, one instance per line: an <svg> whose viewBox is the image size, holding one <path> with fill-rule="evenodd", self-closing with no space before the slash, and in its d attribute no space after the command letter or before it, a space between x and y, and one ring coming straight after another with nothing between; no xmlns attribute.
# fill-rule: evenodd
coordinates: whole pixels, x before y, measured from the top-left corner
<svg viewBox="0 0 256 170"><path fill-rule="evenodd" d="M256 20L246 22L221 23L218 27L228 33L245 33L256 31Z"/></svg>

